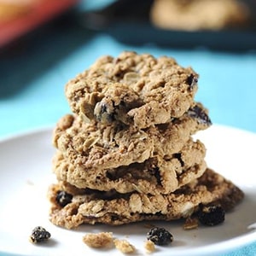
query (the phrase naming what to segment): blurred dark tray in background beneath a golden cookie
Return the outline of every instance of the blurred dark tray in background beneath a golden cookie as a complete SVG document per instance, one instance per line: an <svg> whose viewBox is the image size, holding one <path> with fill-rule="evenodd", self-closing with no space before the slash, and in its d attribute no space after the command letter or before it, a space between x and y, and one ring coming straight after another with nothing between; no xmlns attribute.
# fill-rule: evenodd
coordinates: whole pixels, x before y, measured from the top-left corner
<svg viewBox="0 0 256 256"><path fill-rule="evenodd" d="M244 1L252 11L247 28L221 31L174 31L152 25L149 11L153 0L119 0L99 11L84 12L82 22L92 30L106 32L125 44L157 44L163 47L207 47L219 50L256 49L256 1Z"/></svg>

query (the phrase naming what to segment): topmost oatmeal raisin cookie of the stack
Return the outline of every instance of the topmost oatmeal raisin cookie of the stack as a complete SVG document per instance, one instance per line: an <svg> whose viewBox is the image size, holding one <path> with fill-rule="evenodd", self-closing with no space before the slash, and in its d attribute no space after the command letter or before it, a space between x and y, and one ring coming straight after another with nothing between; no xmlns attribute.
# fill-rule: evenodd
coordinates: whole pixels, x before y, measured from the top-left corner
<svg viewBox="0 0 256 256"><path fill-rule="evenodd" d="M103 124L146 128L185 113L194 102L198 75L169 57L123 52L103 56L66 85L73 113Z"/></svg>

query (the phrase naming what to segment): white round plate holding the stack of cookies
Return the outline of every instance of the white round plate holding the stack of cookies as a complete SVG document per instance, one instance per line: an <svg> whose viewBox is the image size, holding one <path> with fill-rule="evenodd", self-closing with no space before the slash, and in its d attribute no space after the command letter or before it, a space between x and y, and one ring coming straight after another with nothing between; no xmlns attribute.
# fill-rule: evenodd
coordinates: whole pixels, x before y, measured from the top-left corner
<svg viewBox="0 0 256 256"><path fill-rule="evenodd" d="M198 134L207 146L208 166L230 178L245 192L245 200L226 215L224 224L183 230L181 222L156 222L170 230L174 241L157 247L154 255L216 255L256 241L256 135L224 126L213 125ZM116 249L93 250L84 245L86 232L112 231L127 239L146 254L143 244L148 228L145 224L119 227L96 224L79 230L64 230L49 222L46 192L55 181L51 173L51 130L33 131L0 142L0 255L120 255ZM28 241L32 229L44 226L51 239L33 245Z"/></svg>

